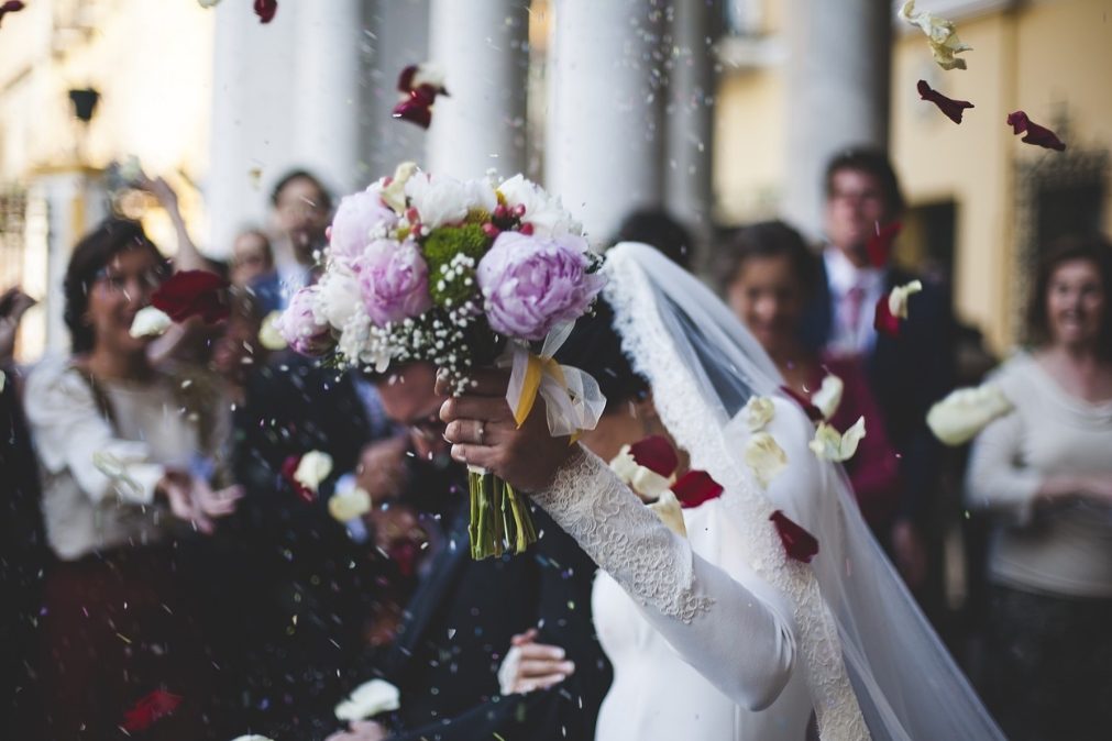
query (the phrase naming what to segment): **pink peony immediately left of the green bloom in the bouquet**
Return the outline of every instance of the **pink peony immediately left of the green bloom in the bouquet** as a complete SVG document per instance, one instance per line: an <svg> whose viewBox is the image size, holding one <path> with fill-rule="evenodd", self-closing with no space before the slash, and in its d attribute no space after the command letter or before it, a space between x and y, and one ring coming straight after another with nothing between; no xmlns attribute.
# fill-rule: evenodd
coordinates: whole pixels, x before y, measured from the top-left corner
<svg viewBox="0 0 1112 741"><path fill-rule="evenodd" d="M428 266L416 242L378 239L353 266L367 316L379 327L428 311Z"/></svg>

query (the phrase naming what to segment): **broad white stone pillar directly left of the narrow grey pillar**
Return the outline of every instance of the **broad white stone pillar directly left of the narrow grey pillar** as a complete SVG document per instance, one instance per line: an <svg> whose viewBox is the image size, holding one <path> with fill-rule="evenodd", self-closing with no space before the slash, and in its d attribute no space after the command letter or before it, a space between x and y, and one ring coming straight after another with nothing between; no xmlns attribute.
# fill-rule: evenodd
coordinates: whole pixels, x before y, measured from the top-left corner
<svg viewBox="0 0 1112 741"><path fill-rule="evenodd" d="M600 244L663 197L659 11L559 0L549 12L545 184Z"/></svg>

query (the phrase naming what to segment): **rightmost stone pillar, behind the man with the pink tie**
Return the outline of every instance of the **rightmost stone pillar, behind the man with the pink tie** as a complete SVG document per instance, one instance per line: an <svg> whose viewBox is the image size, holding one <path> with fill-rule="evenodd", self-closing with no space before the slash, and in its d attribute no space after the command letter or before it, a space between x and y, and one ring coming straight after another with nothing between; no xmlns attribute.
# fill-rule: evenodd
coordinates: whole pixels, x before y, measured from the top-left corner
<svg viewBox="0 0 1112 741"><path fill-rule="evenodd" d="M823 171L853 144L887 147L892 6L788 0L787 156L783 212L810 237L823 226Z"/></svg>

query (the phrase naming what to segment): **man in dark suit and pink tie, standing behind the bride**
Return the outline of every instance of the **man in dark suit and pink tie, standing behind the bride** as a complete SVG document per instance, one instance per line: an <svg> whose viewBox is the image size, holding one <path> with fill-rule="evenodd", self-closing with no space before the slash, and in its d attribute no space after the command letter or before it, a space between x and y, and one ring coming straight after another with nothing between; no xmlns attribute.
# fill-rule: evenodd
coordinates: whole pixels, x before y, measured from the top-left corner
<svg viewBox="0 0 1112 741"><path fill-rule="evenodd" d="M808 339L832 354L856 356L900 457L903 492L885 547L913 589L930 581L937 590L937 569L929 553L937 551L932 527L941 447L926 427L926 412L953 383L954 319L946 289L891 264L874 241L896 222L904 201L887 157L854 149L836 156L826 169L826 244L823 280L808 317ZM881 263L881 264L877 264ZM909 303L898 337L874 329L877 302L896 286L923 282ZM887 534L887 538L884 535ZM929 571L933 573L929 574Z"/></svg>

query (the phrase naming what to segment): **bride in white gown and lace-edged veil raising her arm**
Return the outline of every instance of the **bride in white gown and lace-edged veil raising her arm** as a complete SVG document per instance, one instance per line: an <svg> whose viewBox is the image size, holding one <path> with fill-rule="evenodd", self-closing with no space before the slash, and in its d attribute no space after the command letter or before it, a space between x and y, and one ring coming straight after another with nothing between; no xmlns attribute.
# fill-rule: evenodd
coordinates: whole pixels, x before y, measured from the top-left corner
<svg viewBox="0 0 1112 741"><path fill-rule="evenodd" d="M453 455L528 491L605 572L595 622L615 678L597 739L802 740L814 728L823 741L1002 739L870 535L841 468L807 449L814 428L777 394L756 341L648 247L615 247L605 270L613 318L584 320L562 359L604 385L641 379L642 399L626 384L570 445L548 435L544 414L517 429L496 373L441 409ZM745 462L742 410L754 397L773 399L765 431L788 460L767 485ZM684 511L686 538L596 454L609 460L653 432L725 490ZM785 554L775 510L818 540L810 564Z"/></svg>

